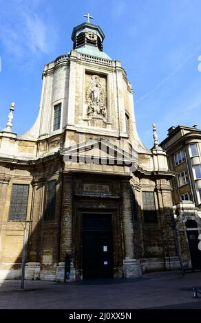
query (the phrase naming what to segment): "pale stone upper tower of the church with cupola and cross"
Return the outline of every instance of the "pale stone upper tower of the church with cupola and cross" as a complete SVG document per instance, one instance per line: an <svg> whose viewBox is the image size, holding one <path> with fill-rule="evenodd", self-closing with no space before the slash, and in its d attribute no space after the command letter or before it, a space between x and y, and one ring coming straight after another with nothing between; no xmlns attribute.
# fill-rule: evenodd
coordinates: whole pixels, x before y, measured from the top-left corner
<svg viewBox="0 0 201 323"><path fill-rule="evenodd" d="M126 71L103 51L105 34L91 23L92 16L86 17L72 30L70 52L45 64L39 117L22 137L45 140L63 134L63 148L105 137L127 152L137 142L143 149ZM56 146L48 149L56 151Z"/></svg>

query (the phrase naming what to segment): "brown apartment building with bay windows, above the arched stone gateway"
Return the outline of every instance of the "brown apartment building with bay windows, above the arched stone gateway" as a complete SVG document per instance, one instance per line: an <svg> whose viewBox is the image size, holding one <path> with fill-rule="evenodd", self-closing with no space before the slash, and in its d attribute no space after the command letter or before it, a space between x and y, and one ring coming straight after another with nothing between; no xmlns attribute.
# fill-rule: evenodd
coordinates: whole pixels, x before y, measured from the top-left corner
<svg viewBox="0 0 201 323"><path fill-rule="evenodd" d="M169 168L177 173L173 179L173 204L191 201L201 206L201 129L176 126L168 130L162 146L169 156ZM201 212L201 210L200 210Z"/></svg>

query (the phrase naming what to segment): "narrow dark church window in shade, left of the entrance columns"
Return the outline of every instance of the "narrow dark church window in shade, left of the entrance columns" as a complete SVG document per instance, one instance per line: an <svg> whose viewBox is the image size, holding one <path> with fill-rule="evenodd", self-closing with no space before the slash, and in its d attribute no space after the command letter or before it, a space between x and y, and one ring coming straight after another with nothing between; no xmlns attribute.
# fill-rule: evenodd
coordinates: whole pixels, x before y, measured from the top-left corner
<svg viewBox="0 0 201 323"><path fill-rule="evenodd" d="M47 182L44 220L54 220L56 202L56 179Z"/></svg>

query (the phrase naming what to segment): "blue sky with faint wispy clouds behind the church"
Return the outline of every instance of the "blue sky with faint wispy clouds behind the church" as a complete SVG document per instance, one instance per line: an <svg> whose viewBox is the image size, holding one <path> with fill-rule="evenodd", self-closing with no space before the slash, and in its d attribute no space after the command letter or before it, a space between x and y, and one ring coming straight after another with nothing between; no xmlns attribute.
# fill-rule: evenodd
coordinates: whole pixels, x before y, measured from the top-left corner
<svg viewBox="0 0 201 323"><path fill-rule="evenodd" d="M0 129L12 101L13 131L32 126L43 65L72 49L72 28L88 12L133 85L142 142L151 148L153 122L160 141L170 126L201 128L200 0L0 0L0 12Z"/></svg>

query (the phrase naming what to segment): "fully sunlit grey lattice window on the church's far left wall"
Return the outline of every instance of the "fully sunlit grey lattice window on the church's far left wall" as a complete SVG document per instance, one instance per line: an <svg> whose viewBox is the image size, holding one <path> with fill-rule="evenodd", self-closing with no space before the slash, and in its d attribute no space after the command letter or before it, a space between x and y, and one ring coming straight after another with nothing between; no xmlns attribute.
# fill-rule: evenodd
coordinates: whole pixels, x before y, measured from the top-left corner
<svg viewBox="0 0 201 323"><path fill-rule="evenodd" d="M10 199L10 221L23 221L27 217L29 185L13 184Z"/></svg>

